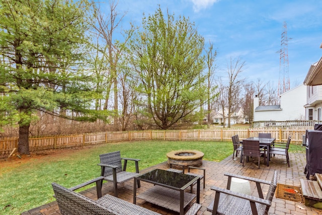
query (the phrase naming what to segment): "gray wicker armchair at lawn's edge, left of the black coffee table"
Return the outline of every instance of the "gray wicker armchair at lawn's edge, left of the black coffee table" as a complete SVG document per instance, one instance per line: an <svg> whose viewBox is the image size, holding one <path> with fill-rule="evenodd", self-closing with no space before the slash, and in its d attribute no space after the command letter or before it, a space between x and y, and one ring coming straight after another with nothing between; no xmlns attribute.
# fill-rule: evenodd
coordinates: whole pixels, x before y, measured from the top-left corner
<svg viewBox="0 0 322 215"><path fill-rule="evenodd" d="M123 170L121 159L124 160ZM118 196L117 183L123 183L139 175L139 159L121 158L120 151L102 154L100 161L101 163L98 165L101 166L101 176L104 176L104 180L113 182L116 197ZM136 173L126 172L127 161L135 162ZM139 181L137 187L140 187Z"/></svg>

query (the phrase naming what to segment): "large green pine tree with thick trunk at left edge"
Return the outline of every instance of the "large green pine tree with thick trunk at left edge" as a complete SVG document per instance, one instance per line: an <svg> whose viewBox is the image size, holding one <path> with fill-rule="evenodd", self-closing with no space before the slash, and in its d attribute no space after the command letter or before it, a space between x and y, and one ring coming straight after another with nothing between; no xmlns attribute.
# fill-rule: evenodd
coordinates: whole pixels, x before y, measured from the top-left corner
<svg viewBox="0 0 322 215"><path fill-rule="evenodd" d="M35 111L95 119L85 68L88 1L0 0L1 124L19 125L18 152L29 154Z"/></svg>

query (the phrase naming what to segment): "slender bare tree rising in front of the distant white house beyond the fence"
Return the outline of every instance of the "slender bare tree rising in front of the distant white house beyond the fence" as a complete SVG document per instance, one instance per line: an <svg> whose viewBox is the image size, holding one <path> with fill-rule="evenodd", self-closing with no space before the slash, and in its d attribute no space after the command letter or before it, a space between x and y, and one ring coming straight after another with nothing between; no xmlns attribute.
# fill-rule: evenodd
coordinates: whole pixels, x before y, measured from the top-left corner
<svg viewBox="0 0 322 215"><path fill-rule="evenodd" d="M228 127L230 127L230 115L233 109L237 106L239 101L239 95L244 84L244 79L240 79L240 73L243 71L245 61L241 61L239 58L231 59L227 63L227 75L228 75L228 85L227 85L227 100L228 100Z"/></svg>

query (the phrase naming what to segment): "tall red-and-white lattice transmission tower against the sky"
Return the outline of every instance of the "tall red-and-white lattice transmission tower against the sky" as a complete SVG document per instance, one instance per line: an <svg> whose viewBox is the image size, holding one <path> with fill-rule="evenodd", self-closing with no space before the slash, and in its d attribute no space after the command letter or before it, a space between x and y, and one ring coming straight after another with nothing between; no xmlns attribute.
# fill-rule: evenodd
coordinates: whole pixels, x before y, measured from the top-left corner
<svg viewBox="0 0 322 215"><path fill-rule="evenodd" d="M287 50L287 26L283 24L283 33L281 37L280 49L280 75L278 80L278 96L290 90L290 78L288 75L288 50Z"/></svg>

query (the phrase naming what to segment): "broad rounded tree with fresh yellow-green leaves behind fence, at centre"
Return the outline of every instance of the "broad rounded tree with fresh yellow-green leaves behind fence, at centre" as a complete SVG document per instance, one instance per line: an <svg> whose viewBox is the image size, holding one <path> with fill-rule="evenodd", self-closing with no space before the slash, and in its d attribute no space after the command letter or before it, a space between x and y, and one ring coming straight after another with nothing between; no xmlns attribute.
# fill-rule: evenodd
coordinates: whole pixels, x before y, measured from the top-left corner
<svg viewBox="0 0 322 215"><path fill-rule="evenodd" d="M204 38L185 17L165 17L158 8L144 17L142 30L129 43L130 62L149 118L162 129L178 122L198 121L200 97L205 97L202 75ZM203 100L205 101L205 100ZM200 116L200 115L199 115Z"/></svg>

